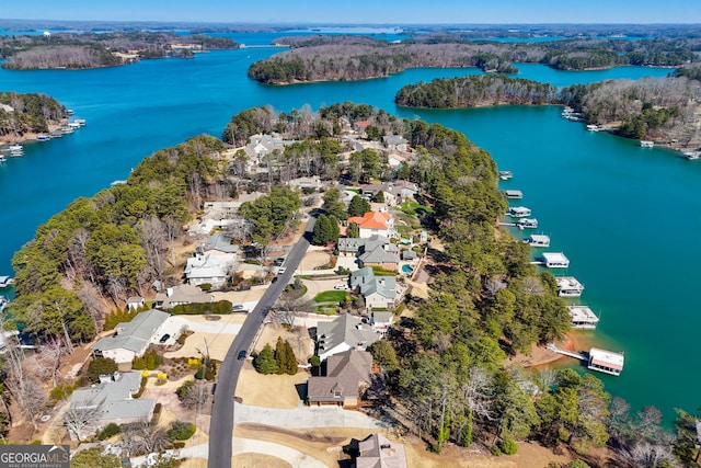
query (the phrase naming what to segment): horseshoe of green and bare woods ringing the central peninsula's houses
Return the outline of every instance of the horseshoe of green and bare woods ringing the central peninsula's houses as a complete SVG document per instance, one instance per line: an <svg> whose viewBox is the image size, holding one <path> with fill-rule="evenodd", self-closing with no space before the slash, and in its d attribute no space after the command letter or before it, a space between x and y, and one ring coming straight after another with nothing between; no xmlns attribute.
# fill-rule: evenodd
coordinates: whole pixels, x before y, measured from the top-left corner
<svg viewBox="0 0 701 468"><path fill-rule="evenodd" d="M366 140L406 138L407 162L386 171L381 153L354 150L346 137L360 122L377 129ZM246 172L241 146L272 132L295 142L266 158L261 183ZM345 171L359 171L359 180L401 178L421 186L420 201L430 209L418 222L440 240L427 252L439 265L428 297L407 295L402 307L411 313L371 349L384 369L392 411L411 431L438 453L453 443L514 454L518 442L535 440L572 449L576 458L609 443L631 466L651 450L668 461L673 449L682 459L693 456L693 416L680 412L673 434L662 427L659 411L630 414L590 374L539 373L507 361L562 338L571 319L552 274L539 273L529 247L497 226L507 204L497 191L496 164L464 135L343 103L318 112L251 109L232 117L223 139L235 147L200 136L160 150L126 184L77 199L41 226L13 259L18 297L10 311L23 333L37 343L62 336L87 342L127 297L154 281L176 284L182 265L174 263L175 246L188 242L183 227L205 199L269 187L241 207L252 224L241 241L260 244L292 222L300 194L284 186L291 176L317 175L324 186ZM334 190L323 196L327 214L337 208Z"/></svg>

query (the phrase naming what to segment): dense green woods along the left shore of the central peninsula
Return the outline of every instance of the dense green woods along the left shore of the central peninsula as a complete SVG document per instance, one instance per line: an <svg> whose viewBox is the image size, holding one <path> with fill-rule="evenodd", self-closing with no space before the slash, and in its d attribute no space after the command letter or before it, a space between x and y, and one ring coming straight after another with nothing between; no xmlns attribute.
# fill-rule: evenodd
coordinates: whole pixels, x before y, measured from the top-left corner
<svg viewBox="0 0 701 468"><path fill-rule="evenodd" d="M165 279L188 210L220 190L222 149L220 140L203 136L160 150L127 184L79 198L39 226L12 260L18 298L11 308L25 332L91 340L104 298L116 305Z"/></svg>

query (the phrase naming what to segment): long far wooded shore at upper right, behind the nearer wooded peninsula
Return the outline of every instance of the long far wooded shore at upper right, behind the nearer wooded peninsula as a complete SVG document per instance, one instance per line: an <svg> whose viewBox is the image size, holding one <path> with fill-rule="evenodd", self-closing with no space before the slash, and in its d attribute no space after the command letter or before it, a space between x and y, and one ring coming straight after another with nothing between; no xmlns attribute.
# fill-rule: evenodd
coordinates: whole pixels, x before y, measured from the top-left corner
<svg viewBox="0 0 701 468"><path fill-rule="evenodd" d="M249 77L271 84L387 77L416 67L479 67L515 73L513 62L562 70L624 65L678 67L699 60L701 38L566 39L543 43L471 41L449 32L401 43L363 36L281 37L291 50L251 65Z"/></svg>

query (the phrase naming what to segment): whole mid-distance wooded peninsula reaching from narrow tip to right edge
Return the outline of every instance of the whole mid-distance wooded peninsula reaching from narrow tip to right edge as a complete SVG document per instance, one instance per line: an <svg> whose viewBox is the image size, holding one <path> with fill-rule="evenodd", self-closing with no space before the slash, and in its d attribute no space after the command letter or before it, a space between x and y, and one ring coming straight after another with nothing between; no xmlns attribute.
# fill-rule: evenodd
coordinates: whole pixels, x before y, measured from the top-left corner
<svg viewBox="0 0 701 468"><path fill-rule="evenodd" d="M561 104L581 113L586 124L620 136L696 149L701 147L701 82L688 77L698 77L699 69L682 70L677 77L607 80L562 89L502 76L437 79L403 87L394 101L429 109Z"/></svg>

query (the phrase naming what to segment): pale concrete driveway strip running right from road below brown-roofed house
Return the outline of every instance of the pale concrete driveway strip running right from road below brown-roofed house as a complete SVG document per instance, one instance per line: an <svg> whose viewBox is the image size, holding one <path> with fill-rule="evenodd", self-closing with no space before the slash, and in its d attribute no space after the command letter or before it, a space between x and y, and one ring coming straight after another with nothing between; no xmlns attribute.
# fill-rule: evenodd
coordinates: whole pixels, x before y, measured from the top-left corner
<svg viewBox="0 0 701 468"><path fill-rule="evenodd" d="M234 403L234 424L254 422L285 429L359 427L388 429L389 425L359 411L338 407L277 409Z"/></svg>

